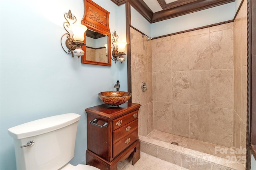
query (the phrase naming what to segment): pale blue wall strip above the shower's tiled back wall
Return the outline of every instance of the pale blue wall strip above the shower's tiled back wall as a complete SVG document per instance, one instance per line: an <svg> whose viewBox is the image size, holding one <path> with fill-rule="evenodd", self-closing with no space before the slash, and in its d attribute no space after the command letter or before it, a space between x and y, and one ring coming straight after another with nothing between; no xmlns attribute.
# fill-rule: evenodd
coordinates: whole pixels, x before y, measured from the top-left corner
<svg viewBox="0 0 256 170"><path fill-rule="evenodd" d="M233 20L236 3L231 2L214 8L194 12L151 24L151 37L185 31L205 25Z"/></svg>

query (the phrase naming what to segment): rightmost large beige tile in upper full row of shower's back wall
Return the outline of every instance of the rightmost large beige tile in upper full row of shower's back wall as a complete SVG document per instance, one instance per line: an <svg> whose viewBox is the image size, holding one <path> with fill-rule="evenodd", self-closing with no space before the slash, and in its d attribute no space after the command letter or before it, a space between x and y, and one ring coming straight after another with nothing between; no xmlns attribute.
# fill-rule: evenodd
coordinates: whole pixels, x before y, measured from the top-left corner
<svg viewBox="0 0 256 170"><path fill-rule="evenodd" d="M233 41L232 28L210 33L210 69L233 69Z"/></svg>

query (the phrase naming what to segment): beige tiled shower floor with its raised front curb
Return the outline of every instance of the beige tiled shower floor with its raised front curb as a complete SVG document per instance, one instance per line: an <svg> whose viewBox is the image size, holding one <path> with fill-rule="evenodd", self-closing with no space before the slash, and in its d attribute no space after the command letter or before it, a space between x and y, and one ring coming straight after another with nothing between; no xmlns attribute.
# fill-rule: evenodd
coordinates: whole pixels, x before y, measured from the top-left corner
<svg viewBox="0 0 256 170"><path fill-rule="evenodd" d="M142 152L189 170L245 170L245 164L238 162L243 156L234 154L233 148L157 130L139 138Z"/></svg>

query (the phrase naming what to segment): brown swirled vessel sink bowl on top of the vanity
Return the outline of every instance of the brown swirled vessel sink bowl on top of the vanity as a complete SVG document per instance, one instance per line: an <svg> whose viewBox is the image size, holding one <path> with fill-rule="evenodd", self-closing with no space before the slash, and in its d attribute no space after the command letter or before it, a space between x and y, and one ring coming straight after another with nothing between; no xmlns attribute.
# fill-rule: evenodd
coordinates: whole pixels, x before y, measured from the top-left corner
<svg viewBox="0 0 256 170"><path fill-rule="evenodd" d="M100 92L98 96L105 104L117 107L127 102L132 94L129 92L110 91Z"/></svg>

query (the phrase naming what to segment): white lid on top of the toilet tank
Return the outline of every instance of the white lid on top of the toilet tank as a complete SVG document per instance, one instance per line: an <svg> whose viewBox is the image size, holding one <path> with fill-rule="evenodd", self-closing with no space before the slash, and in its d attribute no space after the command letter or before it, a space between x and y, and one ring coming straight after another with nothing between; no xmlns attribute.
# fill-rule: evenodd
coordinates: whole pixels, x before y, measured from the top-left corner
<svg viewBox="0 0 256 170"><path fill-rule="evenodd" d="M12 127L8 129L8 133L14 139L23 139L66 127L78 121L80 117L81 116L76 113L66 113L62 115L46 117Z"/></svg>

